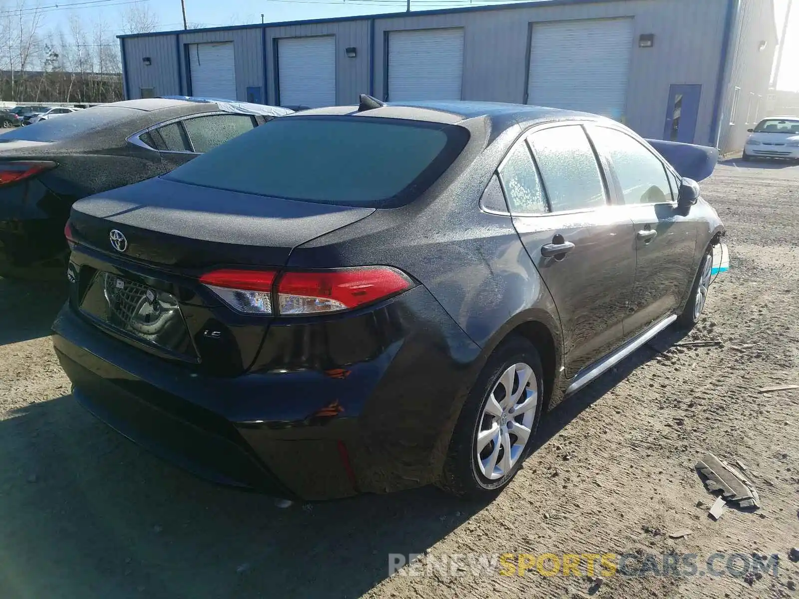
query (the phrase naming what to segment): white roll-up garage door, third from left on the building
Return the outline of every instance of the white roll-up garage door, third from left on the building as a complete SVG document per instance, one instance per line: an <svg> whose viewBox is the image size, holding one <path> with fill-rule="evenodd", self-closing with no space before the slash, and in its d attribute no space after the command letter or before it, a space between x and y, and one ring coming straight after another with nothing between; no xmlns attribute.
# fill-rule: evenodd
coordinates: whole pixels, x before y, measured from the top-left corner
<svg viewBox="0 0 799 599"><path fill-rule="evenodd" d="M463 29L389 32L389 100L460 100L462 81Z"/></svg>

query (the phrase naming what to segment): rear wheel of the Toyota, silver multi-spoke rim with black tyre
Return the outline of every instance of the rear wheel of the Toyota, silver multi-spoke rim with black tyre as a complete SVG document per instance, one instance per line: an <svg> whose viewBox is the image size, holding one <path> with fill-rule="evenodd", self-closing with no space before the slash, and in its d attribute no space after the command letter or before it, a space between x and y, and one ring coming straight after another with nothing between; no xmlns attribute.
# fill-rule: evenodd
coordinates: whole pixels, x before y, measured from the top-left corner
<svg viewBox="0 0 799 599"><path fill-rule="evenodd" d="M479 498L511 482L535 437L542 399L538 352L527 339L507 339L488 359L463 405L439 486Z"/></svg>

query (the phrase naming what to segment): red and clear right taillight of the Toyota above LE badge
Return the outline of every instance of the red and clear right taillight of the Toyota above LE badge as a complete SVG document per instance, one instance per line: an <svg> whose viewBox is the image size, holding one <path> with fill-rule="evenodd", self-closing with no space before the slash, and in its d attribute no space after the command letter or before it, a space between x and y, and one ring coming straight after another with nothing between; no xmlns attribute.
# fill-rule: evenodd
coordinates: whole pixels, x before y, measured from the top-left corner
<svg viewBox="0 0 799 599"><path fill-rule="evenodd" d="M253 314L309 315L352 310L413 287L396 268L366 266L330 271L220 270L200 278L225 303ZM277 305L272 305L272 296Z"/></svg>

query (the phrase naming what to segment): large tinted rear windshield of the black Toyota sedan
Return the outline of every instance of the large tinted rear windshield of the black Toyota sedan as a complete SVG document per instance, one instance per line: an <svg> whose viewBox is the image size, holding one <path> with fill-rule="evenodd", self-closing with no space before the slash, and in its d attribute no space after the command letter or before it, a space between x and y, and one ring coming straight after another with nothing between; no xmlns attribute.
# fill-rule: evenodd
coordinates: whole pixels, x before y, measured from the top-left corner
<svg viewBox="0 0 799 599"><path fill-rule="evenodd" d="M457 125L280 117L165 177L260 196L392 208L430 187L468 139Z"/></svg>

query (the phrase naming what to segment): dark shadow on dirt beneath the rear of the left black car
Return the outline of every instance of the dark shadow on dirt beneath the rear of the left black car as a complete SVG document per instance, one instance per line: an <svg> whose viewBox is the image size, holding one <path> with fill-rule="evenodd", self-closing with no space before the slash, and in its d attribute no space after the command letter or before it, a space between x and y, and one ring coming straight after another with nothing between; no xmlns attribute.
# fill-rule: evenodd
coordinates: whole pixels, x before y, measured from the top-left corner
<svg viewBox="0 0 799 599"><path fill-rule="evenodd" d="M50 335L50 325L68 296L66 276L58 281L0 277L0 345Z"/></svg>

